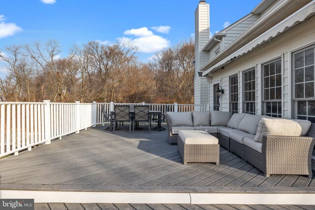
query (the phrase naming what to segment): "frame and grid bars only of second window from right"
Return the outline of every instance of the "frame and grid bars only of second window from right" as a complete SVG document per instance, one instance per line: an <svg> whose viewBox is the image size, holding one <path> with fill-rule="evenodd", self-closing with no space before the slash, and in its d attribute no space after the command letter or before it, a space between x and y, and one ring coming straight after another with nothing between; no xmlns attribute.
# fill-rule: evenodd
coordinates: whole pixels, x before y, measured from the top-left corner
<svg viewBox="0 0 315 210"><path fill-rule="evenodd" d="M280 61L280 73L277 73L277 65L276 63ZM269 71L269 75L268 76L265 76L265 72L264 72L264 66L266 65L269 65L269 70L270 70L270 64L271 63L275 63L275 73L272 74L275 76L275 86L274 87L270 87L270 77L272 76L270 74L270 71ZM276 118L282 118L283 117L283 103L282 103L282 100L283 100L283 60L282 60L282 57L278 57L276 59L273 59L273 60L269 60L265 63L262 63L261 64L261 106L262 106L262 114L263 115L267 115L267 116L271 116L271 117L276 117ZM280 76L280 83L281 85L280 86L276 86L277 84L277 75L281 75ZM266 100L265 99L265 77L269 77L269 98L270 98L270 89L274 89L275 90L275 98L274 99L268 99ZM281 98L277 99L276 98L276 93L277 93L277 88L280 88L281 89ZM267 104L268 103L271 103L271 113L267 113ZM273 113L272 109L273 109L273 103L277 103L277 114ZM281 110L279 110L279 103L280 103L280 107L281 107ZM280 111L280 114L279 114L279 111Z"/></svg>

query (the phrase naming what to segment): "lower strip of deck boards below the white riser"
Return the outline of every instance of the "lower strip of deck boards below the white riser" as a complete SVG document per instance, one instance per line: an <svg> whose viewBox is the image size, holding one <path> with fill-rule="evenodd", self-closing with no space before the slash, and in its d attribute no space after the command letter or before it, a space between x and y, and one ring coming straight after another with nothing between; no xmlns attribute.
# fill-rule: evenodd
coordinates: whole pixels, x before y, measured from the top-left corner
<svg viewBox="0 0 315 210"><path fill-rule="evenodd" d="M315 206L39 203L35 204L35 210L315 210Z"/></svg>

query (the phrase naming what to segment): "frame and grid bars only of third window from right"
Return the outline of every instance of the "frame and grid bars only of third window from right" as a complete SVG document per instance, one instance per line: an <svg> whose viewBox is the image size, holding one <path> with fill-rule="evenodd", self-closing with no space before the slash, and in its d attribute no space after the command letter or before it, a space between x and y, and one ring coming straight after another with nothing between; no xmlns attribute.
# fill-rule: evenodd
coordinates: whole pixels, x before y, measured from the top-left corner
<svg viewBox="0 0 315 210"><path fill-rule="evenodd" d="M254 90L250 90L251 92L254 91L254 100L251 100L251 101L245 101L245 73L247 72L250 72L250 71L253 71L254 72L254 80L251 80L251 81L247 81L247 82L255 82L255 85L254 85ZM256 81L256 68L255 67L252 67L252 68L249 68L247 70L244 70L242 71L242 104L243 104L243 113L248 113L248 114L252 114L252 115L256 115L256 97L257 97L257 94L256 94L256 85L257 85L257 81ZM249 90L247 90L247 92L249 92ZM251 111L246 111L246 104L247 103L253 103L253 112Z"/></svg>

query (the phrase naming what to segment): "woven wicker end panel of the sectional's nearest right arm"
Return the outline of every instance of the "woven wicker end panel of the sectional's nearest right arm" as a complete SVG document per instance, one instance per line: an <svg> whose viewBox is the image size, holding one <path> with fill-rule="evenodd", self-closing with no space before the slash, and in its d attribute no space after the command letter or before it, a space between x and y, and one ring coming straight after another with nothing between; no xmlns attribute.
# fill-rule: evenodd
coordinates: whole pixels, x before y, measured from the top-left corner
<svg viewBox="0 0 315 210"><path fill-rule="evenodd" d="M265 175L312 175L315 139L305 136L263 136Z"/></svg>

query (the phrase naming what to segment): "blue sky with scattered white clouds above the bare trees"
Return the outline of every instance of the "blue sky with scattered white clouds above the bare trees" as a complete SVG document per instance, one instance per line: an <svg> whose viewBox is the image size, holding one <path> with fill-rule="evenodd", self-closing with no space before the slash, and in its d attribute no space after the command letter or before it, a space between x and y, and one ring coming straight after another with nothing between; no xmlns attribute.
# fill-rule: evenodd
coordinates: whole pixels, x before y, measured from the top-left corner
<svg viewBox="0 0 315 210"><path fill-rule="evenodd" d="M56 39L61 57L73 44L127 39L148 61L162 48L189 39L199 0L0 0L0 49ZM244 17L260 0L207 0L210 31ZM160 27L162 26L162 27ZM5 75L0 61L0 77Z"/></svg>

